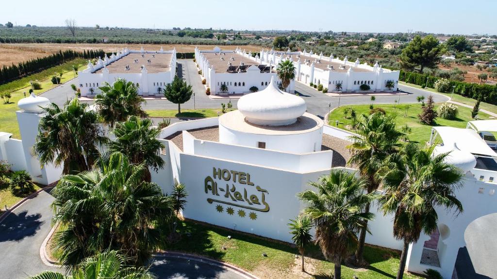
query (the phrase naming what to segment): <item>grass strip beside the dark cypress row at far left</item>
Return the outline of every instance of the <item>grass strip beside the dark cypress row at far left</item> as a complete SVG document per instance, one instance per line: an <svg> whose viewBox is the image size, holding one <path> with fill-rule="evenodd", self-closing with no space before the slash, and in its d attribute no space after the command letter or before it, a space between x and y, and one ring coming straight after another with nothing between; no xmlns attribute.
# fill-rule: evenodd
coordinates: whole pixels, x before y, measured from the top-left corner
<svg viewBox="0 0 497 279"><path fill-rule="evenodd" d="M34 90L36 95L41 94L49 89L52 89L57 86L57 84L52 84L50 78L54 74L54 72L64 72L62 75L61 82L67 82L74 78L74 71L72 70L73 65L78 65L82 67L85 65L85 60L76 59L70 62L66 62L62 65L52 67L47 70L43 70L39 73L33 74L33 79L38 79L41 83L40 90ZM43 78L43 79L42 79ZM19 80L14 80L12 82L0 85L1 92L11 92L12 98L10 98L10 102L8 104L4 104L3 101L0 100L0 131L11 133L12 138L21 139L21 135L19 133L19 126L17 125L17 117L15 115L15 111L19 110L17 107L17 102L24 98L23 92L29 94L29 81L31 80L30 76L21 78ZM8 85L8 86L7 86ZM11 91L12 90L12 91Z"/></svg>

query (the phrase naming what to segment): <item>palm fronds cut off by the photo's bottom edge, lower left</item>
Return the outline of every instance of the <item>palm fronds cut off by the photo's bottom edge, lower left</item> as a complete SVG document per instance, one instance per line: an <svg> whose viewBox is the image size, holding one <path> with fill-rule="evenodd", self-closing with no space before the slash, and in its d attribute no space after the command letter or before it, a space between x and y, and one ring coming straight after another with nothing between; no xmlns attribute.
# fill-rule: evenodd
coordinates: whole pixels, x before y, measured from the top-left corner
<svg viewBox="0 0 497 279"><path fill-rule="evenodd" d="M125 257L117 251L106 251L84 259L72 276L65 276L54 271L44 271L30 279L155 279L145 268L134 268L126 265Z"/></svg>

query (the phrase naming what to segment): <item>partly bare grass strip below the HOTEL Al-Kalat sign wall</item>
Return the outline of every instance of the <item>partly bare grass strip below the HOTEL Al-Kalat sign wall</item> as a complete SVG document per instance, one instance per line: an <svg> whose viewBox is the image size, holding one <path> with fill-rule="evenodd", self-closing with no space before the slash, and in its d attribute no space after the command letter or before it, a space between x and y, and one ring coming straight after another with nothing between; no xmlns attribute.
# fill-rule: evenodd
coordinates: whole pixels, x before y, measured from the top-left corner
<svg viewBox="0 0 497 279"><path fill-rule="evenodd" d="M306 248L307 273L302 273L300 271L302 260L300 256L295 258L299 252L288 243L271 241L189 220L179 222L177 231L181 234L181 239L168 245L164 250L196 254L227 262L259 278L331 278L334 272L333 264L324 259L321 250L315 245ZM232 238L228 239L228 235ZM49 240L47 247L48 250L52 250L47 252L54 259L60 256L60 253L54 250L52 239ZM262 253L266 253L267 257L263 257ZM364 257L369 266L352 269L342 265L342 277L352 278L355 275L360 279L395 278L400 263L400 251L366 246ZM404 278L418 279L420 277L405 274Z"/></svg>

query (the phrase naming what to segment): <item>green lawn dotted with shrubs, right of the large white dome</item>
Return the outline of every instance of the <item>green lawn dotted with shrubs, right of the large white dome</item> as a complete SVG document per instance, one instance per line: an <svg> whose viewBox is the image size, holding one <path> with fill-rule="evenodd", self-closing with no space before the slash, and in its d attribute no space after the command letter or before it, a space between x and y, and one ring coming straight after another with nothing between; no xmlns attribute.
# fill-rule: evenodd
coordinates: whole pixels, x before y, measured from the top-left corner
<svg viewBox="0 0 497 279"><path fill-rule="evenodd" d="M436 104L435 107L438 108L440 104ZM409 106L407 110L407 117L404 117L406 112L406 107ZM409 136L411 141L418 143L424 143L430 139L431 127L429 125L424 125L419 123L417 115L421 113L420 104L401 104L394 108L394 105L375 105L375 108L383 108L389 114L397 114L397 127L400 128L404 125L408 125L412 129L412 133ZM456 128L466 128L467 122L471 121L471 111L472 109L457 106L459 115L455 120L446 120L442 118L437 118L435 120L435 126L451 126ZM343 111L345 108L353 108L356 111L357 116L361 114L369 115L369 105L352 105L343 106L333 110L330 114L329 123L331 126L336 126L336 120L339 121L338 128L348 130L347 125L352 124L352 118L350 113L347 115L347 119L344 118ZM489 115L483 112L478 114L478 119L486 120L489 119Z"/></svg>

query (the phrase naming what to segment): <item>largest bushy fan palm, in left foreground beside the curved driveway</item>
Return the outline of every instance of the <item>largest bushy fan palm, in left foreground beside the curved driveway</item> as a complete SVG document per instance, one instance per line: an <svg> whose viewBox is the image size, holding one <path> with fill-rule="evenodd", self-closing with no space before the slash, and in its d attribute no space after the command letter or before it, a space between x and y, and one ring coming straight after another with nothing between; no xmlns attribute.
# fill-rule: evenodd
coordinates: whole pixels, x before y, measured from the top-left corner
<svg viewBox="0 0 497 279"><path fill-rule="evenodd" d="M74 268L86 257L118 250L129 264L145 264L165 240L161 227L174 218L172 201L142 180L145 163L122 153L104 154L91 171L63 176L53 190L55 235L61 263Z"/></svg>

